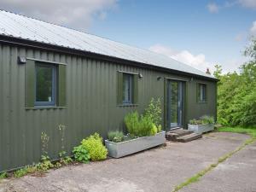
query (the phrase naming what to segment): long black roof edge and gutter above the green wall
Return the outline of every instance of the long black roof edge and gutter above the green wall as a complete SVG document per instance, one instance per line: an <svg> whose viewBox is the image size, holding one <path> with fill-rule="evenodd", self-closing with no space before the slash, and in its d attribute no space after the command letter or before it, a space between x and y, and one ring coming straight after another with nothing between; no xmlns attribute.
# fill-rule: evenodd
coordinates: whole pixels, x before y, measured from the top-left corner
<svg viewBox="0 0 256 192"><path fill-rule="evenodd" d="M61 53L65 53L65 54L70 54L70 55L79 55L79 56L86 56L92 59L100 59L103 61L113 61L113 62L118 62L121 64L131 64L133 66L137 66L137 67L146 67L146 68L151 68L151 69L155 69L158 71L164 71L164 72L172 72L172 73L176 73L176 74L183 74L184 76L188 76L188 77L196 77L199 79L207 79L210 81L218 81L219 79L216 79L214 77L207 77L207 76L203 76L203 75L198 75L195 73L187 73L187 72L183 72L183 71L178 71L175 69L170 69L170 68L166 68L166 67L158 67L158 66L154 66L154 65L150 65L150 64L146 64L143 62L138 62L138 61L130 61L130 60L125 60L125 59L121 59L118 57L113 57L113 56L109 56L109 55L102 55L102 54L97 54L97 53L92 53L90 51L84 51L84 50L79 50L79 49L72 49L72 48L67 48L67 47L62 47L62 46L58 46L58 45L54 45L54 44L45 44L42 42L38 42L38 41L32 41L29 39L24 39L24 38L15 38L15 37L10 37L10 36L6 36L3 34L0 34L0 43L3 44L15 44L15 45L20 45L20 46L25 46L25 47L30 47L30 48L35 48L35 49L46 49L49 51L56 51L56 52L61 52Z"/></svg>

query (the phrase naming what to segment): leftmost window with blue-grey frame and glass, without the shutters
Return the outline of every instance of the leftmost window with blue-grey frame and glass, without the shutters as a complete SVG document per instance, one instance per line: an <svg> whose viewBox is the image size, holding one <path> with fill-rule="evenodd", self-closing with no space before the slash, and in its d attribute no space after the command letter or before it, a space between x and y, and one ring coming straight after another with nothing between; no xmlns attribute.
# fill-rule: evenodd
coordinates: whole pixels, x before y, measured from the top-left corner
<svg viewBox="0 0 256 192"><path fill-rule="evenodd" d="M35 106L55 105L56 67L54 65L36 65L36 101Z"/></svg>

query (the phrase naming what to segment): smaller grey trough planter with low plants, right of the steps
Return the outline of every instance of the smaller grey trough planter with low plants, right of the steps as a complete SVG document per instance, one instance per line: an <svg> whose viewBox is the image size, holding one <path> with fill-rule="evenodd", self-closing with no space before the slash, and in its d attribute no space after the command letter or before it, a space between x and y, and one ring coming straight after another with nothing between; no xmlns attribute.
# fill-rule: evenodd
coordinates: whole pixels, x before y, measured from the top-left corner
<svg viewBox="0 0 256 192"><path fill-rule="evenodd" d="M214 130L214 118L204 115L200 119L189 120L188 130L195 133L204 133Z"/></svg>

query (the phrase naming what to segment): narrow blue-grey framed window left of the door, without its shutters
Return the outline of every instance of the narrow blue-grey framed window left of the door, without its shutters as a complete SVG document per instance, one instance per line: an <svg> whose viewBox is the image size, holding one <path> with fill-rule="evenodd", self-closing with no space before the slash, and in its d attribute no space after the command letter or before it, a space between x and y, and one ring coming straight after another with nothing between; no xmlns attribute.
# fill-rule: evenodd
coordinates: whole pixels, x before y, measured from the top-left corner
<svg viewBox="0 0 256 192"><path fill-rule="evenodd" d="M133 75L124 73L123 75L123 103L124 104L131 104L131 97L132 97L132 79Z"/></svg>

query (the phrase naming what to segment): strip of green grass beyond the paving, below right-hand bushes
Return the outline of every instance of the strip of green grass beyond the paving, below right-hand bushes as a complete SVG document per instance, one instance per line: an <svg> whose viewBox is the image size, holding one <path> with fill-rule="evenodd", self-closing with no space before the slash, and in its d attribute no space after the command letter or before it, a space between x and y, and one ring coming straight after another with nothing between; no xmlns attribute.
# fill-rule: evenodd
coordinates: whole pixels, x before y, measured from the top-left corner
<svg viewBox="0 0 256 192"><path fill-rule="evenodd" d="M217 129L218 132L236 132L236 133L245 133L256 139L256 127L230 127L224 126Z"/></svg>

